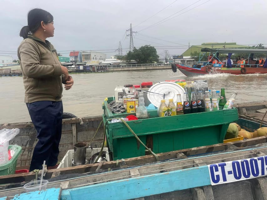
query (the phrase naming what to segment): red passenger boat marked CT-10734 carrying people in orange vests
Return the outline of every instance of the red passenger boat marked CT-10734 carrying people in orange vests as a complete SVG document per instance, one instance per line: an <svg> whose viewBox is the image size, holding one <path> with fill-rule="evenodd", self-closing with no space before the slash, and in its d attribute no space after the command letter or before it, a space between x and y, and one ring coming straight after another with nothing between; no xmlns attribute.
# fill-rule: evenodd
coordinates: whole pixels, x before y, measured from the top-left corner
<svg viewBox="0 0 267 200"><path fill-rule="evenodd" d="M267 53L267 49L209 49L209 48L202 48L201 49L200 59L196 64L193 64L191 66L189 65L183 65L183 64L174 64L172 63L172 71L177 72L177 69L180 70L184 75L188 77L193 76L199 76L204 74L211 74L211 73L229 73L233 75L240 75L240 74L264 74L267 73L267 64L265 62L263 67L260 67L259 64L255 64L256 61L253 59L254 53ZM212 58L215 57L218 61L218 55L219 53L226 53L228 54L228 58L231 59L231 55L233 53L235 54L242 54L242 53L248 53L249 58L246 59L246 63L244 65L244 68L240 67L240 64L237 64L234 62L234 64L229 65L229 67L225 67L225 63L221 64L212 64L208 62L201 62L200 60L203 58L203 55L206 53L209 53L209 55L212 54Z"/></svg>

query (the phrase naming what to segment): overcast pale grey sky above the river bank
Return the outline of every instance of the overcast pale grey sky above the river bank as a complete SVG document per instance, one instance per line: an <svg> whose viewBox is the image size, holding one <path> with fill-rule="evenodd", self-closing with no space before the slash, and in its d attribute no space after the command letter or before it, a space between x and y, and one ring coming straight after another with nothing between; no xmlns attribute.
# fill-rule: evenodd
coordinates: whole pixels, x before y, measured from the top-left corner
<svg viewBox="0 0 267 200"><path fill-rule="evenodd" d="M0 8L0 55L14 59L23 39L20 29L33 8L54 16L55 34L48 40L64 56L73 50L97 50L110 57L120 41L126 53L130 40L125 33L131 23L138 32L134 46L155 46L158 54L168 50L180 55L188 42L267 46L266 0L0 0Z"/></svg>

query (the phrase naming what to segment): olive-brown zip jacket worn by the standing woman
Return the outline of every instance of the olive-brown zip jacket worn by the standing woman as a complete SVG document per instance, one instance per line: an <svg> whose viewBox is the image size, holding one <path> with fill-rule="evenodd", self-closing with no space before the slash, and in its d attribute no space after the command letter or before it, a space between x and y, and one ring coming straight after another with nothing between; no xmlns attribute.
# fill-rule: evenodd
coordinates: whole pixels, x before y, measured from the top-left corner
<svg viewBox="0 0 267 200"><path fill-rule="evenodd" d="M61 63L50 42L28 35L18 47L18 59L23 75L25 103L61 101Z"/></svg>

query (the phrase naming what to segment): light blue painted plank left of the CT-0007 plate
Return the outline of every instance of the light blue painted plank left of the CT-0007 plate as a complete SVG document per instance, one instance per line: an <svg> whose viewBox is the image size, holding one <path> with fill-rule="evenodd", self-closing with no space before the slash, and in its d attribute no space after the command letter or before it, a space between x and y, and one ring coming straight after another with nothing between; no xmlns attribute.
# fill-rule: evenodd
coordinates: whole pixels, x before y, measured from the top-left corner
<svg viewBox="0 0 267 200"><path fill-rule="evenodd" d="M194 181L188 181L188 179L192 179ZM170 184L172 187L170 187ZM102 199L123 200L125 198L133 199L146 197L205 185L210 185L208 166L67 189L62 191L61 199L98 199L100 192ZM110 188L110 186L112 187ZM115 190L112 188L119 189Z"/></svg>

